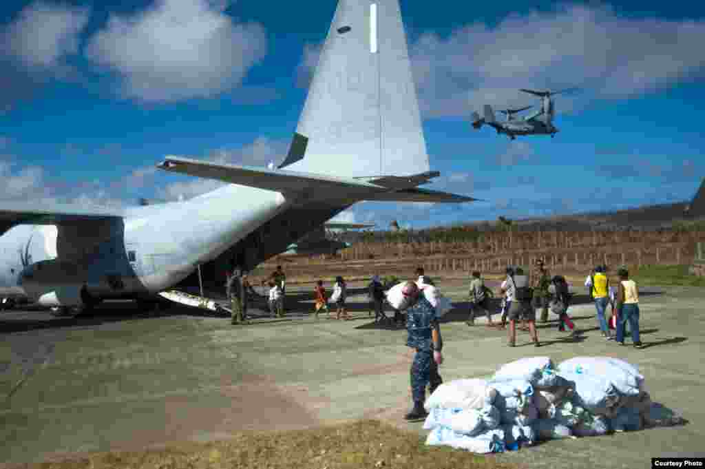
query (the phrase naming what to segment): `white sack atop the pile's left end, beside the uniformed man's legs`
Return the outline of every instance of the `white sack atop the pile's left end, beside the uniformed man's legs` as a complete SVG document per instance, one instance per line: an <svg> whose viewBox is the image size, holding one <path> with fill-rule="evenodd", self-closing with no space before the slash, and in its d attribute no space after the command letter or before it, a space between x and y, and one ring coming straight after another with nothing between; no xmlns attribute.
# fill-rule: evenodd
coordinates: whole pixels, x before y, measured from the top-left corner
<svg viewBox="0 0 705 469"><path fill-rule="evenodd" d="M438 386L424 403L424 408L479 409L491 406L495 397L496 391L484 379L455 379Z"/></svg>

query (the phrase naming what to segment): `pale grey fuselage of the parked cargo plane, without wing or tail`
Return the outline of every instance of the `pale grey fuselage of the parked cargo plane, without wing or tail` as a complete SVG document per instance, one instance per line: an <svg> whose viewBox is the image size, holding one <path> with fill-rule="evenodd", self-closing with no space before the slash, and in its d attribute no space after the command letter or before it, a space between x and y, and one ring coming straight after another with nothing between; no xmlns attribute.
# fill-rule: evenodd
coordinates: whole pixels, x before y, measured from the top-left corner
<svg viewBox="0 0 705 469"><path fill-rule="evenodd" d="M157 293L287 205L280 193L228 185L187 202L134 207L123 219L18 225L0 236L0 296L74 306Z"/></svg>

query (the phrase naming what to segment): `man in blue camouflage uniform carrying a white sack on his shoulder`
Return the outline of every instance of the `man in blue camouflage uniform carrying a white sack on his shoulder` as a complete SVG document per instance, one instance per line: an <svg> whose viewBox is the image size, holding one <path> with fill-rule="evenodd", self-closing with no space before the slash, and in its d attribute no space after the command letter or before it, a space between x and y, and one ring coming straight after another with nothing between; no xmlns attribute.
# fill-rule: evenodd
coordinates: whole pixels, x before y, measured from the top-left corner
<svg viewBox="0 0 705 469"><path fill-rule="evenodd" d="M425 296L419 294L414 282L403 287L407 298L406 329L409 333L406 345L414 348L414 362L411 365L411 391L414 408L405 416L406 420L418 420L427 416L424 409L426 386L431 393L443 382L438 365L443 363L441 330L436 317L436 308Z"/></svg>

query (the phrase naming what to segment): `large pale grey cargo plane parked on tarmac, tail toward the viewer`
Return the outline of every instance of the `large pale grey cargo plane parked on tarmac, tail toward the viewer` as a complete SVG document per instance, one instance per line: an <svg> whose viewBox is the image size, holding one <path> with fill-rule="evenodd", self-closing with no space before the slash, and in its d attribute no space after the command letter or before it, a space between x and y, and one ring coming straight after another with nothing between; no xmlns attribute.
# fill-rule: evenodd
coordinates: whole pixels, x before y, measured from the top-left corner
<svg viewBox="0 0 705 469"><path fill-rule="evenodd" d="M228 183L125 209L0 204L0 296L66 312L159 299L202 264L244 269L364 200L470 202L418 188L429 157L398 0L341 0L290 150L276 169L166 157L159 168Z"/></svg>

